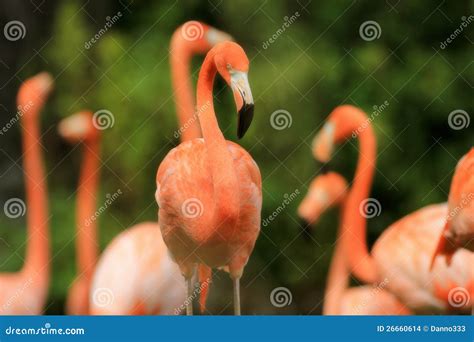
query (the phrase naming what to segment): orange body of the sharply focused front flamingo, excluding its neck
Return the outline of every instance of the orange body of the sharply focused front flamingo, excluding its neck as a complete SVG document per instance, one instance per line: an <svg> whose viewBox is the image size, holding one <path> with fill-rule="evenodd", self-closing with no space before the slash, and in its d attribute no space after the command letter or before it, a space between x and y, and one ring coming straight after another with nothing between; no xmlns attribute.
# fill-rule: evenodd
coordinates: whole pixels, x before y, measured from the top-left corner
<svg viewBox="0 0 474 342"><path fill-rule="evenodd" d="M193 139L174 148L158 169L159 222L163 238L173 246L173 257L180 266L232 264L242 269L255 245L262 207L260 171L242 147L227 141L227 148L239 184L239 216L233 225L224 224L219 230L216 227L226 218L212 215L213 179L204 139ZM192 205L197 211L187 214L193 210Z"/></svg>

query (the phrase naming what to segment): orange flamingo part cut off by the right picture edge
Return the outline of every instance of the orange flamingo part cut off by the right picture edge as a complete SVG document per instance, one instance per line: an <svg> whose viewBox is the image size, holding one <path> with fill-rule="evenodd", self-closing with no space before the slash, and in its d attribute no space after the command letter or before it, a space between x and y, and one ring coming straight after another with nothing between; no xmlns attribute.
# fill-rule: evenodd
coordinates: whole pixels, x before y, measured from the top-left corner
<svg viewBox="0 0 474 342"><path fill-rule="evenodd" d="M450 259L458 248L474 252L474 148L456 166L449 192L448 212L433 262L439 254Z"/></svg>

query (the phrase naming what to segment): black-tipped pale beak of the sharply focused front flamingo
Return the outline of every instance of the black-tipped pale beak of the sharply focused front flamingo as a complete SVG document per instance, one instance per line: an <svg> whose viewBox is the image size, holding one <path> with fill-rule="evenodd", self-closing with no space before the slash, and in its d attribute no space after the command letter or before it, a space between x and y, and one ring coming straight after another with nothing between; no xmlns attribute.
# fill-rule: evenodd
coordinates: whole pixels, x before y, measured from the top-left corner
<svg viewBox="0 0 474 342"><path fill-rule="evenodd" d="M234 92L235 105L238 111L237 137L240 139L247 132L253 119L253 97L250 91L246 72L232 71L230 86Z"/></svg>

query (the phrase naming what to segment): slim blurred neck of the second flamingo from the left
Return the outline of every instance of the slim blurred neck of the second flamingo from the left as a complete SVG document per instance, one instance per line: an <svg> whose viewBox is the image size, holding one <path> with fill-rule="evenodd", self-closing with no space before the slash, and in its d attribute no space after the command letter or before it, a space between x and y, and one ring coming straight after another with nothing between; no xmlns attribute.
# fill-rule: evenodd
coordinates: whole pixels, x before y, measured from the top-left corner
<svg viewBox="0 0 474 342"><path fill-rule="evenodd" d="M97 261L97 225L93 219L99 183L100 141L84 142L84 159L79 177L76 204L77 268L88 281L92 279Z"/></svg>

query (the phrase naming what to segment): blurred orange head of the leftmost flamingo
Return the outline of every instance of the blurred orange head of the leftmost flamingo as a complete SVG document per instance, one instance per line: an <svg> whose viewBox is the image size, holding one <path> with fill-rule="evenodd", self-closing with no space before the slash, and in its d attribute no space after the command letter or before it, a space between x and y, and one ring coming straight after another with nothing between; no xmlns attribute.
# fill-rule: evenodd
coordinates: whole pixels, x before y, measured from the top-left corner
<svg viewBox="0 0 474 342"><path fill-rule="evenodd" d="M47 72L41 72L23 82L17 95L19 112L24 117L37 115L53 89L53 83L53 78Z"/></svg>

